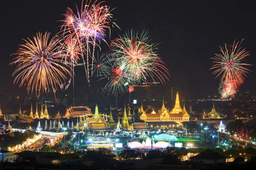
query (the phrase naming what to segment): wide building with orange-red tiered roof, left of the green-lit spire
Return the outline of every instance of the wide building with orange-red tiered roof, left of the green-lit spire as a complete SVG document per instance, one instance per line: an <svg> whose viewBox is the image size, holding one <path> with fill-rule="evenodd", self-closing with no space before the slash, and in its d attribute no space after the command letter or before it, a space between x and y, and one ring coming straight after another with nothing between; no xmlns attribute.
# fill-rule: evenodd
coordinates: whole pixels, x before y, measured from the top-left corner
<svg viewBox="0 0 256 170"><path fill-rule="evenodd" d="M83 106L79 106L79 107L70 107L67 109L65 115L63 116L64 118L72 118L72 117L80 117L83 115L91 115L92 111L90 108L88 107L83 107Z"/></svg>

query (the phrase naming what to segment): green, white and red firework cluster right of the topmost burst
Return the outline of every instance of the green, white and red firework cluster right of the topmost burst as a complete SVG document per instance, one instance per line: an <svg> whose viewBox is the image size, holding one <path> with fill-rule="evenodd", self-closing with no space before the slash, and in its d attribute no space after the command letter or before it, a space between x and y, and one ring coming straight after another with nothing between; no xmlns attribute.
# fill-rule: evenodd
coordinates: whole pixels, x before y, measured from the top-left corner
<svg viewBox="0 0 256 170"><path fill-rule="evenodd" d="M141 35L131 31L110 43L111 52L100 59L94 68L104 74L98 74L108 79L104 90L110 90L113 95L131 92L133 86L149 79L156 78L162 83L168 80L169 72L164 62L154 52L156 45L151 44L148 32ZM103 67L102 67L103 66ZM129 88L130 87L130 88ZM130 89L130 90L129 90Z"/></svg>

